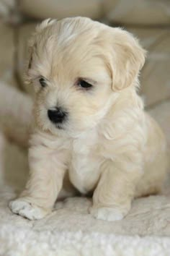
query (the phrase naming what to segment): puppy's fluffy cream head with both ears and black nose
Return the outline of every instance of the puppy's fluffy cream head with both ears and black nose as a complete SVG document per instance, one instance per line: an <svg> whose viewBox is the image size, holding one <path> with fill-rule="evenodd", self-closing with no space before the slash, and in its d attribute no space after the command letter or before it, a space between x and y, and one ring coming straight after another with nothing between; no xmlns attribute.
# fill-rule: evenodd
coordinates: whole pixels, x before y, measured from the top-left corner
<svg viewBox="0 0 170 256"><path fill-rule="evenodd" d="M117 95L137 85L144 54L130 33L89 18L42 22L27 65L38 127L70 135L95 127Z"/></svg>

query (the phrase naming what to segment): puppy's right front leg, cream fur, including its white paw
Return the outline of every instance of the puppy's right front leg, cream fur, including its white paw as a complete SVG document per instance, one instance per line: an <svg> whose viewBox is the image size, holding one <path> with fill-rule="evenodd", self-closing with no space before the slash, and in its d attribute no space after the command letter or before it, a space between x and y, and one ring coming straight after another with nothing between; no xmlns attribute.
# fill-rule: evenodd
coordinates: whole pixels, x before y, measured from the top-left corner
<svg viewBox="0 0 170 256"><path fill-rule="evenodd" d="M93 195L90 213L98 219L117 221L130 210L141 170L124 169L125 166L107 161L102 166L102 176Z"/></svg>

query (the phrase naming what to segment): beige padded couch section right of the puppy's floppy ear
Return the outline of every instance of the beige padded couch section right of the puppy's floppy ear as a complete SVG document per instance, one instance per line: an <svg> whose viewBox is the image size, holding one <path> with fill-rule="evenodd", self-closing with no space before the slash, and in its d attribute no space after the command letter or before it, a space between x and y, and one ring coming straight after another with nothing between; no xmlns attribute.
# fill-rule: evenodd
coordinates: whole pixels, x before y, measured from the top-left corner
<svg viewBox="0 0 170 256"><path fill-rule="evenodd" d="M146 105L170 97L170 30L131 29L148 51L146 64L141 72L141 90Z"/></svg>

